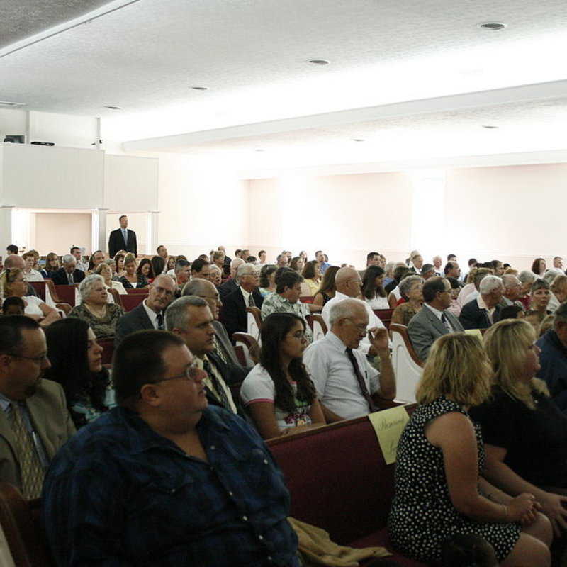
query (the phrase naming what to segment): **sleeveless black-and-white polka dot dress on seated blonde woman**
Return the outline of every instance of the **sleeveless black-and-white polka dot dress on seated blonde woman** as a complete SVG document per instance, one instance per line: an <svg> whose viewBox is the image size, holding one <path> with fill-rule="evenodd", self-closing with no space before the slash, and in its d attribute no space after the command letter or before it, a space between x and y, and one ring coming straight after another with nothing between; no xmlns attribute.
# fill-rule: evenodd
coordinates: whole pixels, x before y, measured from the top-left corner
<svg viewBox="0 0 567 567"><path fill-rule="evenodd" d="M398 445L395 496L388 520L393 545L404 555L424 563L440 561L443 542L454 534L478 534L503 561L520 537L519 523L476 522L456 510L449 496L443 453L425 437L425 426L449 412L468 415L461 406L437 398L420 405L406 425ZM474 424L478 471L484 467L481 428Z"/></svg>

